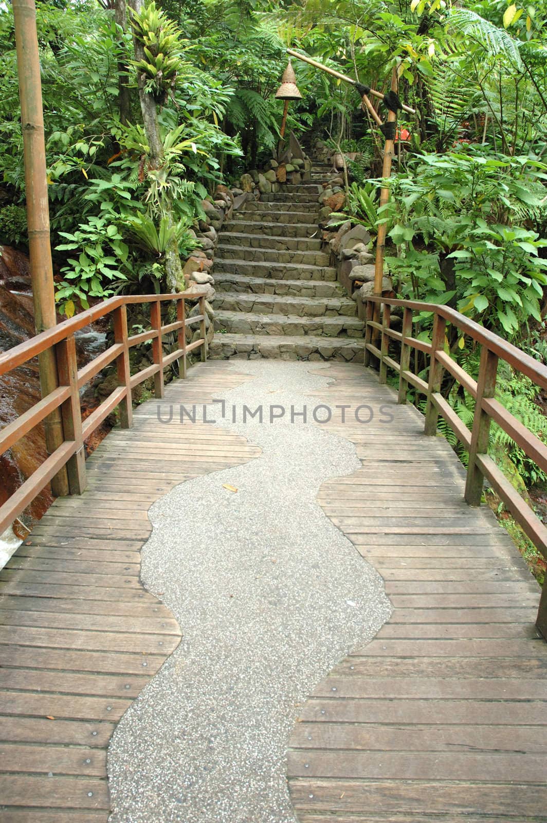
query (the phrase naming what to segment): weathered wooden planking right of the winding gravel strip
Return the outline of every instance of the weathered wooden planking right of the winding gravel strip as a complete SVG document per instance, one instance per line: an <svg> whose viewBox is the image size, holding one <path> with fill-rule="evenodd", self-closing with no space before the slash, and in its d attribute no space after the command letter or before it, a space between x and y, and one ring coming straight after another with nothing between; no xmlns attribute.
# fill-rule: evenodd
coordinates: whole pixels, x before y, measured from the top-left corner
<svg viewBox="0 0 547 823"><path fill-rule="evenodd" d="M299 711L288 777L300 823L545 821L540 588L494 514L463 503L465 471L414 408L390 405L363 367L318 374L334 379L318 402L373 408L367 425L353 411L326 425L362 468L318 500L382 575L393 613Z"/></svg>

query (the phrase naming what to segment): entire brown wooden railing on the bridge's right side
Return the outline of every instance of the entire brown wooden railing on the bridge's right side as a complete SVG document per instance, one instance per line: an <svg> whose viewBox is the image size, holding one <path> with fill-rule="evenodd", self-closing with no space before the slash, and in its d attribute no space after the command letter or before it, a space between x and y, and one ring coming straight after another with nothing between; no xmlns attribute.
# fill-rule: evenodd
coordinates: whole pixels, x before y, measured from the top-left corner
<svg viewBox="0 0 547 823"><path fill-rule="evenodd" d="M547 367L526 355L517 346L512 346L502 337L489 332L478 323L474 323L447 306L419 303L413 300L392 300L384 297L365 298L364 304L365 365L370 365L371 355L377 358L380 383L386 382L388 369L399 374L398 402L406 402L409 386L424 395L426 398L424 433L426 435L437 434L437 422L440 415L447 421L458 441L469 453L465 491L467 503L472 506L480 505L483 481L486 477L527 537L547 558L547 528L488 455L490 423L495 421L536 466L547 472L547 446L495 398L499 360L504 360L512 369L521 374L526 374L526 377L543 389L547 389ZM391 328L392 308L403 309L400 332ZM413 314L415 312L433 314L431 342L424 342L413 337ZM475 344L480 346L480 368L477 380L467 374L447 353L445 343L447 323L459 329L463 335L471 337ZM393 341L396 341L400 351L398 361L390 354L390 343ZM410 370L410 353L413 349L429 356L427 382ZM451 374L452 378L475 399L475 415L471 429L461 421L450 403L441 394L445 372ZM541 634L547 638L547 580L540 597L536 625Z"/></svg>

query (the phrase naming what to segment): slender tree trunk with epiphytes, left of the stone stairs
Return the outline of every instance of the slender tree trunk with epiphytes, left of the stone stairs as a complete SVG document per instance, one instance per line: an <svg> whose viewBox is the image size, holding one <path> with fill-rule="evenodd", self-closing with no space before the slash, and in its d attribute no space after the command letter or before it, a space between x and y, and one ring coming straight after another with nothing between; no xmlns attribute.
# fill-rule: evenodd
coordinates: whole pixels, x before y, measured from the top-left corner
<svg viewBox="0 0 547 823"><path fill-rule="evenodd" d="M142 0L130 0L132 9L137 12L141 11ZM135 58L137 60L146 59L143 46L138 38L133 35L133 46L135 49ZM159 168L164 160L164 146L160 137L160 124L158 123L158 111L155 105L154 96L145 91L145 77L142 74L138 75L139 100L141 103L142 124L146 133L146 139L150 146L150 163L154 168ZM173 203L169 195L165 196L163 205L163 212L168 220L169 227L174 226ZM184 291L186 284L184 282L183 267L180 263L180 255L178 253L178 243L173 240L165 249L165 278L167 281L167 291L172 293L174 291Z"/></svg>

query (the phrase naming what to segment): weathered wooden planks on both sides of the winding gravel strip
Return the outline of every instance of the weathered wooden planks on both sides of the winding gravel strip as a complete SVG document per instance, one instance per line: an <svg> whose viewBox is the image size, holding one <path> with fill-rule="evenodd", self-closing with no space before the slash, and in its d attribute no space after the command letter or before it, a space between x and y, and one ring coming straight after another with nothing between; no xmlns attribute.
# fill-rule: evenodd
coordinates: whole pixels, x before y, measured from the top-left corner
<svg viewBox="0 0 547 823"><path fill-rule="evenodd" d="M299 823L545 821L537 584L494 515L462 501L457 458L415 409L363 366L308 368L334 379L313 401L373 409L369 424L340 411L328 424L363 466L318 500L385 579L393 614L301 709L288 756ZM244 363L210 361L165 399L211 402L244 379ZM92 455L86 493L58 500L0 573L2 823L107 820L109 737L180 638L139 582L147 509L259 453L216 426L171 433L147 402Z"/></svg>

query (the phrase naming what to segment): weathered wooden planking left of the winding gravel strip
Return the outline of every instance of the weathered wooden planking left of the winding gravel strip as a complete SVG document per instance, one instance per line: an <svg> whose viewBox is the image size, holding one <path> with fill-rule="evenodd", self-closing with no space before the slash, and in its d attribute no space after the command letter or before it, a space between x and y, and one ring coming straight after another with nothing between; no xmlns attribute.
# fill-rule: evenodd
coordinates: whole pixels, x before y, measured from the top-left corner
<svg viewBox="0 0 547 823"><path fill-rule="evenodd" d="M63 498L0 572L0 820L105 823L115 723L178 645L181 628L144 591L147 509L181 481L260 453L213 425L177 423L245 375L195 366L134 412L87 461L88 489ZM183 628L183 627L182 627Z"/></svg>

